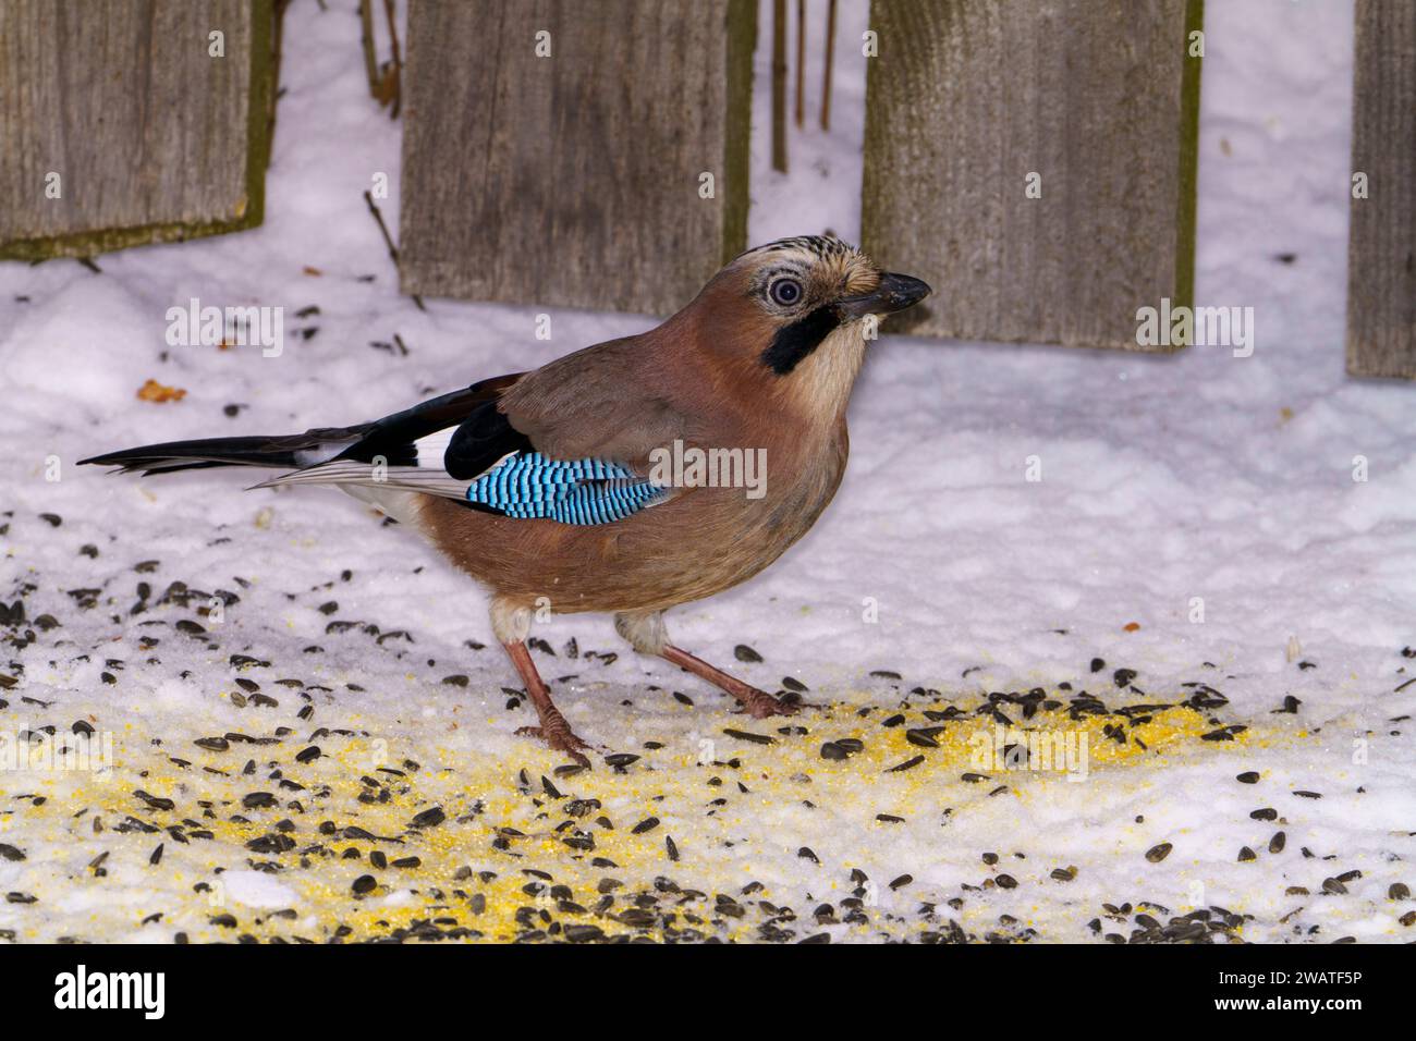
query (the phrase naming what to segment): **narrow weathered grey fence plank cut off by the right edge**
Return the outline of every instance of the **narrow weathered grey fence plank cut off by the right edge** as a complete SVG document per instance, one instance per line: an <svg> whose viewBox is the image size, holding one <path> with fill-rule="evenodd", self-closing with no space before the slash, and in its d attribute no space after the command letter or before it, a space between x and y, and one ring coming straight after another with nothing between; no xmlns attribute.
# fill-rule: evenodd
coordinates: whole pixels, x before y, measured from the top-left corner
<svg viewBox="0 0 1416 1041"><path fill-rule="evenodd" d="M1416 3L1358 0L1347 371L1416 377Z"/></svg>

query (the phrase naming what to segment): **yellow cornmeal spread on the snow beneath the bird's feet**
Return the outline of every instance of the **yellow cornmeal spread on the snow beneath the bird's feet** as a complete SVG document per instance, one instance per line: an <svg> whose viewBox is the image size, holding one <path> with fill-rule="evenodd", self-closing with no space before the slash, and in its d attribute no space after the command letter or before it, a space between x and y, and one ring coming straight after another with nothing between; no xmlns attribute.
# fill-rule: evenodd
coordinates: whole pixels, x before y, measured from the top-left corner
<svg viewBox="0 0 1416 1041"><path fill-rule="evenodd" d="M139 880L142 872L150 872L154 889L174 885L171 891L154 892L150 905L136 908L135 918L127 925L137 929L144 915L160 911L161 922L143 926L144 929L159 929L163 936L185 932L193 942L232 940L241 935L258 939L302 936L327 942L340 926L351 931L346 940L355 942L388 936L392 929L429 919L443 919L439 928L466 926L486 939L510 940L523 932L515 919L517 909L523 906L544 908L561 925L598 925L610 935L663 939L664 931L657 923L657 914L656 925L649 929L634 929L610 916L593 914L593 906L600 899L596 885L602 878L616 878L624 884L612 891L616 899L607 915L617 915L632 906L633 895L654 892L657 877L673 878L684 889L694 888L705 894L684 906L675 906L678 897L674 892L656 894L660 902L651 911L677 912L674 928L698 929L704 935L726 940L755 940L759 939L758 926L767 918L755 902L773 901L773 892L770 884L749 895L741 891L745 882L756 877L753 861L765 860L769 851L762 847L760 840L749 841L738 847L749 850L745 858L739 858L725 844L733 841L738 829L760 824L763 813L790 813L810 800L821 810L852 819L857 826L869 824L877 830L878 841L888 844L891 824L875 824L878 813L913 819L916 814L939 813L940 806L947 804L953 814L967 814L973 803L988 799L990 793L994 797L1029 799L1045 792L1046 785L1065 782L1065 772L1061 770L981 769L977 752L981 745L994 744L995 722L973 712L943 722L932 722L922 715L923 708L942 707L943 704L912 702L903 710L908 722L898 727L881 725L895 710L879 707L865 718L852 705L830 705L809 708L799 717L765 721L719 715L711 708L685 708L697 712L692 722L700 729L694 734L674 734L674 727L666 724L666 748L626 749L643 756L627 770L615 772L595 756L592 772L564 778L554 773L564 759L530 741L518 745L507 762L487 756L464 761L456 749L430 749L435 761L456 763L447 768L426 762L426 738L422 742L411 741L405 749L398 739L327 735L316 741L324 752L323 758L309 765L295 761L296 752L307 744L302 739L303 735L289 735L279 745L232 742L225 752L208 752L190 742L178 746L169 741L164 746L150 746L129 739L118 742L113 778L106 783L98 783L88 775L45 775L42 783L28 790L44 795L47 802L38 807L17 810L13 831L42 834L50 841L64 843L74 853L75 863L88 863L103 850L110 850L106 867L116 872L123 865L129 885L135 882L135 872ZM1121 715L1083 715L1073 721L1065 710L1039 711L1034 719L1021 724L1020 705L1000 704L1000 708L1014 718L1014 727L1024 734L1061 732L1070 735L1073 741L1080 741L1085 735L1087 769L1093 775L1107 775L1147 761L1160 765L1181 755L1223 755L1253 744L1263 746L1277 735L1245 729L1233 741L1205 742L1201 735L1216 729L1219 724L1211 721L1212 712L1187 708L1157 711L1148 722L1140 725L1133 725ZM708 729L714 724L716 729ZM346 719L341 725L360 731L357 718ZM799 725L810 732L794 734ZM1117 744L1104 734L1104 728L1117 725L1129 736L1126 744ZM641 728L646 732L639 739L653 738L647 732L653 727L653 722L646 722ZM919 748L906 738L909 728L925 727L943 728L935 735L937 748ZM738 739L724 734L724 729L772 736L773 744ZM864 749L845 761L821 758L824 741L843 738L860 739ZM1014 741L1017 735L1010 734L1007 739ZM1137 739L1144 742L1144 749ZM416 751L413 745L418 745ZM187 759L191 766L176 766L169 755ZM915 756L923 756L923 761L908 770L888 772ZM406 769L405 758L421 759L425 765L408 769L406 776L378 769L379 765ZM256 762L252 776L241 773L248 759ZM736 768L728 765L729 761L736 761ZM306 790L285 790L278 779L269 779L272 762L283 776L304 785ZM227 776L210 773L204 766L222 769ZM518 778L523 766L528 782L524 787ZM964 775L984 776L969 783L963 779ZM565 797L545 796L542 776L549 778ZM387 786L388 802L358 802L360 793L378 792L361 778L372 778ZM711 785L712 778L722 783ZM739 790L739 782L749 789L748 793ZM320 797L317 793L324 786L329 787L329 795ZM997 792L1000 787L1005 790ZM176 809L150 810L132 795L135 789L171 799ZM241 799L251 792L269 792L276 797L278 806L244 809ZM571 797L598 799L602 807L572 819L565 812ZM725 806L709 806L711 800L719 797L728 800ZM202 816L204 809L198 800L211 802L214 816ZM292 802L302 803L304 812L292 809ZM411 830L413 816L433 806L443 809L446 821L436 827ZM75 817L85 807L88 812ZM708 816L709 812L712 816ZM470 819L457 823L459 817L466 819L469 814ZM613 829L596 823L596 817L602 814L613 821ZM99 834L92 831L95 816L105 826ZM127 816L163 830L152 834L115 833L113 827ZM232 816L246 817L249 821L235 821L231 820ZM643 834L634 834L632 829L649 817L658 817L663 823ZM214 838L193 838L188 844L174 841L166 827L184 819L197 821ZM296 843L293 850L261 854L245 848L249 840L276 833L275 824L283 819L296 826L289 833ZM319 824L324 820L334 821L341 830L354 826L404 841L324 836L319 833ZM566 820L573 820L573 827L558 831L558 826ZM521 837L507 837L507 850L496 850L493 841L498 829L514 829ZM575 829L593 836L593 851L572 850L561 841L562 836ZM184 826L184 830L193 829ZM673 836L681 850L681 860L677 863L667 855L666 836ZM164 844L163 860L157 865L149 865L147 855L159 843ZM309 854L307 867L302 867L302 850L314 844L321 844L333 855ZM343 858L350 848L360 851L357 860ZM374 850L388 857L387 868L372 867L370 853ZM790 864L796 851L773 853ZM840 857L850 851L830 853ZM416 868L392 867L392 861L401 857L419 857L422 863ZM605 857L615 867L593 867L593 857ZM252 864L270 863L282 867L272 878L296 894L292 901L296 912L293 919L275 916L272 912L276 908L256 909L231 899L212 901L210 894L193 889L198 882L218 884L218 868L246 870ZM474 874L459 881L455 875L463 865L470 867ZM544 871L552 880L535 878L525 874L524 868ZM483 882L476 875L479 871L496 871L497 877ZM355 898L351 884L364 874L374 875L379 885L374 892ZM92 870L84 868L68 877L50 875L33 888L41 902L54 905L64 899L67 889L101 888L108 881L95 878ZM881 887L889 882L888 878L874 881ZM523 891L523 887L532 882L539 882L545 889L539 898ZM549 887L558 884L572 889L572 899L586 909L585 914L556 906L556 901L548 894ZM813 894L814 902L838 902L850 895L852 887L848 871L843 870L828 889ZM440 891L442 898L435 897L433 889ZM455 891L464 895L455 895ZM486 899L481 914L473 912L470 898L476 894ZM745 914L741 918L714 921L719 919L714 914L716 894L735 898ZM797 921L782 922L783 928L793 929L799 939L821 931L811 918L813 906L797 905L793 909ZM837 914L841 912L837 908ZM236 926L224 928L210 922L212 916L222 914L234 915ZM694 923L687 915L708 921ZM14 915L21 921L23 916L23 909ZM874 919L874 912L868 911L867 916ZM86 929L102 931L103 918L103 912L99 912L89 922L67 923L59 935L102 939L102 935L89 936ZM547 923L537 915L531 928L547 928ZM882 928L893 935L910 935L922 929L937 929L939 925L895 919L888 926L871 921L848 928L865 938L881 935Z"/></svg>

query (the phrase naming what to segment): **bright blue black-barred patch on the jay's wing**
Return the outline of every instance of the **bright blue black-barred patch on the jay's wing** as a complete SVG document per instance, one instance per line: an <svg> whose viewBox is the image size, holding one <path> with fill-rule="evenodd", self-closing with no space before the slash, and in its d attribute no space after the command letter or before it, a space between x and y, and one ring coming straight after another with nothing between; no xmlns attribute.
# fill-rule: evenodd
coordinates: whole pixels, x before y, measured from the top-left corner
<svg viewBox="0 0 1416 1041"><path fill-rule="evenodd" d="M472 482L467 501L507 517L609 524L653 506L666 491L619 463L518 452Z"/></svg>

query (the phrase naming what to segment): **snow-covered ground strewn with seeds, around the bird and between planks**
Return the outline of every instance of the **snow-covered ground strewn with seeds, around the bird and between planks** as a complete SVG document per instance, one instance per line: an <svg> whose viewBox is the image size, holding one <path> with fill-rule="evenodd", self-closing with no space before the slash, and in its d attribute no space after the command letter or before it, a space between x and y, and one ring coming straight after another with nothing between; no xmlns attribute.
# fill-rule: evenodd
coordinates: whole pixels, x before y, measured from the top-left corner
<svg viewBox="0 0 1416 1041"><path fill-rule="evenodd" d="M391 178L396 235L401 127L329 6L289 13L265 227L0 265L0 601L24 610L0 751L75 725L110 748L0 768L0 935L1412 938L1416 388L1342 371L1349 3L1206 4L1198 303L1253 307L1253 355L882 339L817 528L670 619L816 708L731 715L609 619L555 619L561 707L639 756L579 775L514 736L484 596L358 503L74 466L350 423L651 324L552 312L544 341L539 309L401 297L361 197ZM755 242L858 231L865 17L843 6L833 133L793 132L777 177L763 11ZM283 306L285 351L169 347L190 297ZM1044 738L1070 769L994 753Z"/></svg>

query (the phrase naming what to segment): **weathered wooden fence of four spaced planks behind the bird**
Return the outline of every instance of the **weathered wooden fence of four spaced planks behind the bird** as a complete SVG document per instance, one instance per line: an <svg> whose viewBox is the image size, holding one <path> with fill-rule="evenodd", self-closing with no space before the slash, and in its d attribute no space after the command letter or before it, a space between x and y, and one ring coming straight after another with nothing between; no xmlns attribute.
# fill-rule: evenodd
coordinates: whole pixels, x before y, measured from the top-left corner
<svg viewBox="0 0 1416 1041"><path fill-rule="evenodd" d="M1168 348L1137 312L1192 302L1201 4L874 0L862 245L939 289L913 331ZM0 0L0 256L259 222L272 20ZM684 305L746 245L756 34L755 0L408 0L404 290ZM1416 377L1416 3L1357 40L1348 367Z"/></svg>

